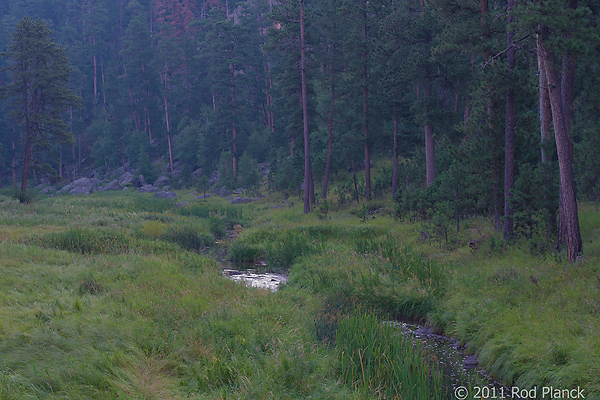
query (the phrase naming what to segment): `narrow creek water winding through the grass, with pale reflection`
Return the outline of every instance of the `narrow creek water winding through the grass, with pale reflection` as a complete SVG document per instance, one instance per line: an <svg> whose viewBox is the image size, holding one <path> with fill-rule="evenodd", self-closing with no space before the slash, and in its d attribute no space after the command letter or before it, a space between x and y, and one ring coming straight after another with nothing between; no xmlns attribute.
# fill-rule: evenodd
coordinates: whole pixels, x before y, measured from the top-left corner
<svg viewBox="0 0 600 400"><path fill-rule="evenodd" d="M247 286L276 291L287 275L270 272L262 262L222 263L223 275ZM387 321L412 340L415 346L433 358L442 369L444 386L452 399L492 398L510 399L510 389L491 379L477 364L473 355L465 355L452 338L435 334L430 328L413 322ZM469 386L471 382L472 386ZM463 389L464 388L464 389ZM465 392L465 390L469 392ZM466 396L464 396L466 394Z"/></svg>

